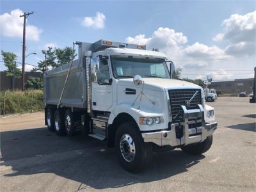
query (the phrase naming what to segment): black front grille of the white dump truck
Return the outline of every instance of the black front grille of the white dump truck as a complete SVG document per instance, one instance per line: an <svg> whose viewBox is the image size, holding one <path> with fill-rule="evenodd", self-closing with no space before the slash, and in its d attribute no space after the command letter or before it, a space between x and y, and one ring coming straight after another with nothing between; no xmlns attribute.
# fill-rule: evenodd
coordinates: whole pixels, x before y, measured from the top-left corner
<svg viewBox="0 0 256 192"><path fill-rule="evenodd" d="M186 106L186 102L193 97L198 91L195 98L190 102L190 106ZM172 122L183 122L184 115L181 105L186 106L187 109L198 109L198 104L202 104L201 90L194 89L180 89L168 90L170 97L170 105L172 111Z"/></svg>

